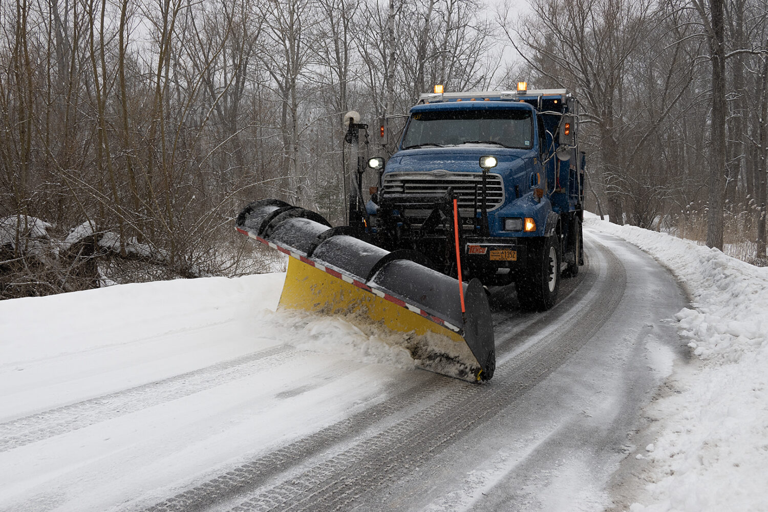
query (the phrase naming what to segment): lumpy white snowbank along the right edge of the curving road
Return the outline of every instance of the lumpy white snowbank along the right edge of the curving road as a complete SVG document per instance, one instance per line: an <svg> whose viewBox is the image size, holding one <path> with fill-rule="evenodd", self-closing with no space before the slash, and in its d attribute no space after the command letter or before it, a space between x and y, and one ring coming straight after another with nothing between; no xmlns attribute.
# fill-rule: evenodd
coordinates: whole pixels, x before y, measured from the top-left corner
<svg viewBox="0 0 768 512"><path fill-rule="evenodd" d="M768 268L593 215L584 226L650 253L680 279L693 306L676 318L700 364L647 411L660 420L660 434L644 454L646 504L631 512L766 510Z"/></svg>

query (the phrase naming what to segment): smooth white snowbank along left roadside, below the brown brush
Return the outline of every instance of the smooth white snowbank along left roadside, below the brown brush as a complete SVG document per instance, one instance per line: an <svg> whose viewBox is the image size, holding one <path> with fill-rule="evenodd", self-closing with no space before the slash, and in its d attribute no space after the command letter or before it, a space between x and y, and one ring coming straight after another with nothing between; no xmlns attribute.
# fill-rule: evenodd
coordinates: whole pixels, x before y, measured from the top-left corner
<svg viewBox="0 0 768 512"><path fill-rule="evenodd" d="M284 279L284 274L174 279L5 300L0 302L2 364L262 315L276 308Z"/></svg>

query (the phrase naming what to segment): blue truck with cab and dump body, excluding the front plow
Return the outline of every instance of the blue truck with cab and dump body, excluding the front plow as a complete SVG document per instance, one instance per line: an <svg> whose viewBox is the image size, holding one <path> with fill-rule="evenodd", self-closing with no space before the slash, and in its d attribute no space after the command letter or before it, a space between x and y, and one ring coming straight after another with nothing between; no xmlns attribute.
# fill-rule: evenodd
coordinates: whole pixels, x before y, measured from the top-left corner
<svg viewBox="0 0 768 512"><path fill-rule="evenodd" d="M565 89L422 94L396 153L370 161L380 179L363 223L379 246L414 249L452 276L460 265L462 279L515 282L523 308L549 309L561 276L584 264L577 133Z"/></svg>

